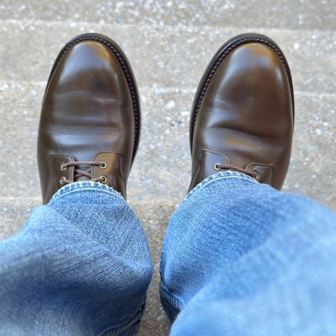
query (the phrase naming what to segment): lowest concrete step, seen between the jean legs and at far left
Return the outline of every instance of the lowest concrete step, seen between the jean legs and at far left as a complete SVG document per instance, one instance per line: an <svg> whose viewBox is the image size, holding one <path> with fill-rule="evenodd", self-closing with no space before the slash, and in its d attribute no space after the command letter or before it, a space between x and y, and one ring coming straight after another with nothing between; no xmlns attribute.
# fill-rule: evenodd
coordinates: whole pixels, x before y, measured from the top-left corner
<svg viewBox="0 0 336 336"><path fill-rule="evenodd" d="M36 197L0 197L0 239L9 237L22 228L31 209L41 204ZM139 217L151 246L155 272L148 289L147 305L139 331L140 336L165 336L169 332L169 321L159 298L159 264L162 241L169 218L175 209L171 202L131 202L132 209Z"/></svg>

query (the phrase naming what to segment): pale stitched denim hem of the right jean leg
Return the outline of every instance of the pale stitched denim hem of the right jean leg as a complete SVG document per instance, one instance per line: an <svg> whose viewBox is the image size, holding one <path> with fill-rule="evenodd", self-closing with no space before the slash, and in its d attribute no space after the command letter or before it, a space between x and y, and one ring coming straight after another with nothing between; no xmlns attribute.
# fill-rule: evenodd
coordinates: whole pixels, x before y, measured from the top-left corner
<svg viewBox="0 0 336 336"><path fill-rule="evenodd" d="M243 173L232 172L230 170L226 172L219 172L207 177L207 179L204 179L201 183L197 184L197 186L195 186L195 188L193 188L193 190L188 193L183 202L186 202L186 200L188 200L190 197L200 193L200 190L209 189L212 192L216 192L218 190L223 192L223 190L239 188L255 183L258 184L259 182L253 179L253 177Z"/></svg>

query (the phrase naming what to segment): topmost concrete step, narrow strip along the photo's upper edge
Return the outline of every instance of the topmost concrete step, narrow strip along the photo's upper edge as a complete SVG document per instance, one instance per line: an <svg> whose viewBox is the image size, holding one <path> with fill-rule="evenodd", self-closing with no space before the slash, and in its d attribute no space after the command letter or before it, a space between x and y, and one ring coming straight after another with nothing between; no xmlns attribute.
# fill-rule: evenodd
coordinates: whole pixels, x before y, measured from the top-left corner
<svg viewBox="0 0 336 336"><path fill-rule="evenodd" d="M204 25L336 29L335 0L38 1L2 0L0 18L115 22L139 25Z"/></svg>

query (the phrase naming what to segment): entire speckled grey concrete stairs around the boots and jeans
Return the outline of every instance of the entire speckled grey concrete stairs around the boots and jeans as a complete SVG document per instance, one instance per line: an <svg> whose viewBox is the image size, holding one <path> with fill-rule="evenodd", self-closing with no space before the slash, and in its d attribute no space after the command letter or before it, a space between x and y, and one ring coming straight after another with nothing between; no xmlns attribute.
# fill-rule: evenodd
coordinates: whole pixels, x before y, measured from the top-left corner
<svg viewBox="0 0 336 336"><path fill-rule="evenodd" d="M144 123L129 199L156 271L169 216L188 188L193 94L214 52L235 34L269 35L292 70L295 137L284 190L336 209L335 8L335 0L0 0L0 238L20 230L41 202L36 134L45 82L64 43L88 31L120 44L139 84ZM168 333L158 279L155 272L139 335Z"/></svg>

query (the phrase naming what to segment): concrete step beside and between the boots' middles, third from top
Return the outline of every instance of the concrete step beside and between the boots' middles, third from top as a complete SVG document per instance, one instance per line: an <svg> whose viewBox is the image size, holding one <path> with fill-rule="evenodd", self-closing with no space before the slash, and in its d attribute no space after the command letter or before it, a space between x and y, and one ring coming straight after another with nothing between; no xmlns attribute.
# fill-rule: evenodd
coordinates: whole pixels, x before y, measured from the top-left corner
<svg viewBox="0 0 336 336"><path fill-rule="evenodd" d="M36 137L44 83L0 81L0 178L3 197L39 197ZM181 202L190 181L188 121L194 90L140 87L143 109L139 153L129 200ZM336 208L336 94L295 92L293 155L284 190ZM155 120L155 123L153 123Z"/></svg>

